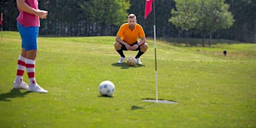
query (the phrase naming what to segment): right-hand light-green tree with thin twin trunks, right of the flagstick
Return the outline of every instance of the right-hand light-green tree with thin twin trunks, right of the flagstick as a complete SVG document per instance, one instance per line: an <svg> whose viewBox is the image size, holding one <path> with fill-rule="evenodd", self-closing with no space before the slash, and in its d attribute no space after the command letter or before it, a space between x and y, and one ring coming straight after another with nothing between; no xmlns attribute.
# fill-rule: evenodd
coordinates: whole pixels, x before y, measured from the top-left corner
<svg viewBox="0 0 256 128"><path fill-rule="evenodd" d="M196 29L203 33L203 46L205 32L209 32L209 39L211 40L213 32L220 29L227 29L233 25L234 19L228 9L229 4L225 4L224 0L201 0ZM209 47L211 46L210 40Z"/></svg>

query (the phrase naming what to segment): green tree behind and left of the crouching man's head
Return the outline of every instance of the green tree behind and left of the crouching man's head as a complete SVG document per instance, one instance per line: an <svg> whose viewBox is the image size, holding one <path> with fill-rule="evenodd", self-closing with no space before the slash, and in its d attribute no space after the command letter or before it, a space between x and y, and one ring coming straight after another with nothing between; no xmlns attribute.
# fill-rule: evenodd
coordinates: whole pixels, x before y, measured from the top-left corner
<svg viewBox="0 0 256 128"><path fill-rule="evenodd" d="M127 9L130 2L127 0L90 0L80 4L88 20L101 27L100 35L107 35L107 26L120 25L126 21Z"/></svg>

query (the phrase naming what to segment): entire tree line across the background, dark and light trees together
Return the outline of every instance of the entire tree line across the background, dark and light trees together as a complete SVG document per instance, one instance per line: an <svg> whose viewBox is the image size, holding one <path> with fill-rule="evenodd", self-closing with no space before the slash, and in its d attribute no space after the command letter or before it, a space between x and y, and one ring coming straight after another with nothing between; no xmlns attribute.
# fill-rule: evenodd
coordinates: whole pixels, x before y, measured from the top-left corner
<svg viewBox="0 0 256 128"><path fill-rule="evenodd" d="M155 22L153 7L147 19L144 19L144 0L38 2L40 9L49 12L47 19L41 20L41 36L115 36L120 25L127 21L128 14L135 13L146 37L154 37L155 24L156 38L159 39L213 38L256 43L254 0L155 0ZM2 0L0 8L0 12L3 12L3 30L17 31L16 1ZM197 18L195 13L198 14Z"/></svg>

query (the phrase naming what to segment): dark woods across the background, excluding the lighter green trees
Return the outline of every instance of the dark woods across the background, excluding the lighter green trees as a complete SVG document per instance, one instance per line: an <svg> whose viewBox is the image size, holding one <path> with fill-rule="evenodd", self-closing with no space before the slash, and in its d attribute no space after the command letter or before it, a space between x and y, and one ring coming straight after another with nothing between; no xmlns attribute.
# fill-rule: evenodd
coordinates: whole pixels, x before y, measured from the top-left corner
<svg viewBox="0 0 256 128"><path fill-rule="evenodd" d="M109 1L109 3L106 3L107 1ZM171 9L175 8L174 0L154 1L155 23L154 11L149 14L146 20L144 19L145 0L107 1L96 0L94 2L91 0L39 0L38 2L40 8L46 9L49 12L47 19L41 20L40 35L115 36L119 28L118 24L125 21L127 17L126 14L135 13L137 16L137 21L142 25L142 27L144 27L147 37L154 37L152 27L153 24L156 25L157 38L168 39L183 38L188 36L184 34L185 32L181 32L180 29L176 28L175 25L168 20L171 17ZM96 21L92 17L88 17L88 14L90 13L86 13L86 10L88 12L90 11L81 7L81 4L87 2L92 2L95 5L99 5L99 7L95 7L97 8L97 12L104 13L107 18L99 18L99 20ZM98 3L96 4L96 2ZM126 8L128 7L126 3L130 3L129 8ZM256 43L256 30L254 29L256 18L256 1L225 0L224 3L230 5L228 11L232 12L232 15L234 16L234 25L230 28L227 27L225 29L221 28L216 31L214 30L211 32L212 38ZM102 4L107 6L101 7ZM120 10L117 11L117 8L112 8L114 5L116 5L116 7L120 7ZM90 6L88 8L90 8ZM115 10L116 12L114 12ZM3 31L17 31L16 18L18 16L18 9L16 6L16 1L0 1L0 12L3 12ZM111 17L116 20L109 23L106 19L111 19ZM109 24L106 24L105 22ZM105 31L103 31L104 29ZM191 38L203 38L202 33L196 32L194 29L189 31L189 36ZM205 33L205 37L210 37L210 33Z"/></svg>

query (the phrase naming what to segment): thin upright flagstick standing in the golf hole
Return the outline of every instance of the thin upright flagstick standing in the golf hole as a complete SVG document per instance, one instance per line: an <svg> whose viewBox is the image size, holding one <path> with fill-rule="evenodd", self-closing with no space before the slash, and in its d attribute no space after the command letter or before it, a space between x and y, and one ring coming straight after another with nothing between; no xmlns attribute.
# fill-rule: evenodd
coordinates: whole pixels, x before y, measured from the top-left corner
<svg viewBox="0 0 256 128"><path fill-rule="evenodd" d="M155 42L155 73L156 73L156 102L158 102L158 93L157 93L157 70L156 70L156 26L155 26L155 1L153 1L153 10L154 10L154 42Z"/></svg>

